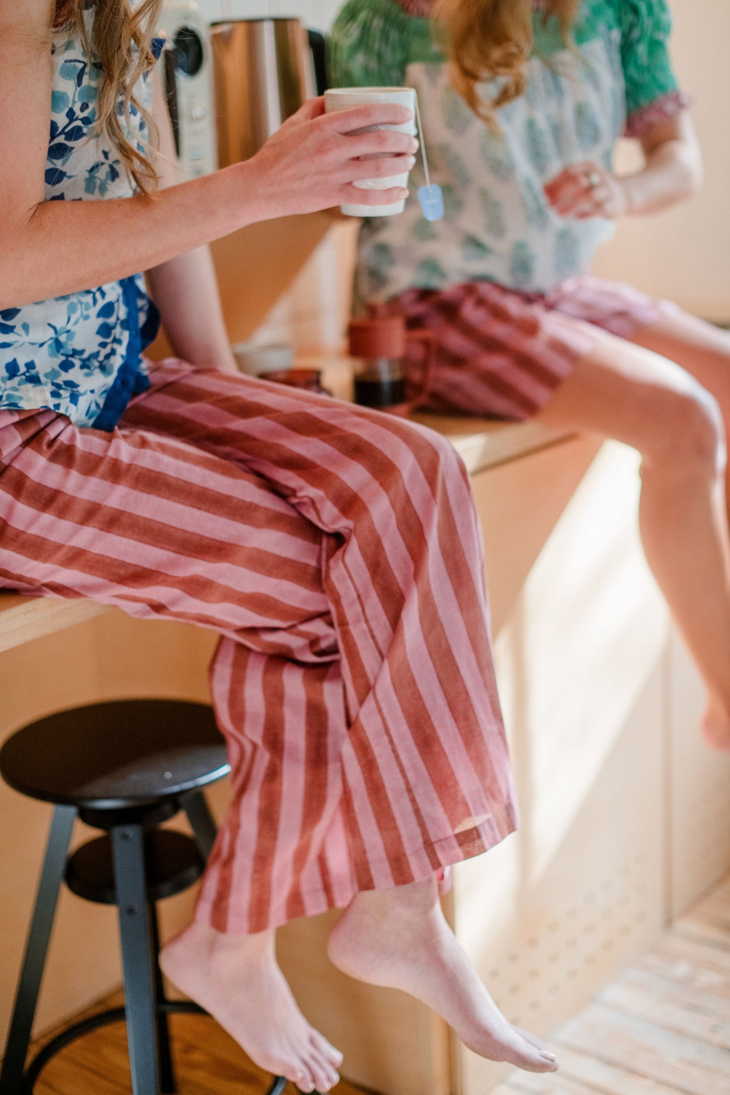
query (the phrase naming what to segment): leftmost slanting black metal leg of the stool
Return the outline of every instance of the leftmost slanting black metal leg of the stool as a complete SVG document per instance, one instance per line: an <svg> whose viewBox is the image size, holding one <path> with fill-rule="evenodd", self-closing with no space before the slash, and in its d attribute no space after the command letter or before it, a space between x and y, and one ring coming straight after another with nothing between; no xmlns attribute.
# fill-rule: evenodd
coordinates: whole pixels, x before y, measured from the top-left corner
<svg viewBox="0 0 730 1095"><path fill-rule="evenodd" d="M21 1091L25 1056L31 1041L35 1006L76 816L74 806L57 806L54 809L0 1072L1 1095L19 1095Z"/></svg>

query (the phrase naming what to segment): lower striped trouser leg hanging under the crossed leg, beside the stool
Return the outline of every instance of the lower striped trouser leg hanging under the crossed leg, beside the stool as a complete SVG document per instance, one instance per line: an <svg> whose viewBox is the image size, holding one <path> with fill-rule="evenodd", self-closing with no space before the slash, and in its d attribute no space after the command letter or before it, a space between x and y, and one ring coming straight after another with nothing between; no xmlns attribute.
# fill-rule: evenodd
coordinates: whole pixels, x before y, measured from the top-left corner
<svg viewBox="0 0 730 1095"><path fill-rule="evenodd" d="M348 904L357 885L343 811L339 664L304 667L223 638L210 677L233 802L196 918L245 933Z"/></svg>

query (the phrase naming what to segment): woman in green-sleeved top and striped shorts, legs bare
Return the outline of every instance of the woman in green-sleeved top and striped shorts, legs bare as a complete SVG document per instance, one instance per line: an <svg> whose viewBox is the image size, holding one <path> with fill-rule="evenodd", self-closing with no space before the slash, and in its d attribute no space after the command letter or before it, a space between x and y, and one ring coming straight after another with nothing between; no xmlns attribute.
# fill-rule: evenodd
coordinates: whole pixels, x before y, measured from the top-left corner
<svg viewBox="0 0 730 1095"><path fill-rule="evenodd" d="M728 750L730 335L588 273L618 217L699 184L670 30L665 0L349 0L331 68L341 87L417 89L445 206L436 223L413 199L363 223L357 307L433 332L433 407L639 450L647 558L708 688L706 737ZM645 163L617 177L624 134Z"/></svg>

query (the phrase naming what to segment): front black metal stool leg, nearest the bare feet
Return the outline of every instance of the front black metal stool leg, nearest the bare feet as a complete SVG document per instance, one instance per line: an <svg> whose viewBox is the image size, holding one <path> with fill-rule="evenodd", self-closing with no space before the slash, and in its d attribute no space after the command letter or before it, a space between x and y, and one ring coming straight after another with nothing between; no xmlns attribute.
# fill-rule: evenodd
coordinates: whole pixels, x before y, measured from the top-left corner
<svg viewBox="0 0 730 1095"><path fill-rule="evenodd" d="M154 953L144 878L142 827L129 825L112 829L112 848L119 908L131 1090L134 1095L160 1095Z"/></svg>

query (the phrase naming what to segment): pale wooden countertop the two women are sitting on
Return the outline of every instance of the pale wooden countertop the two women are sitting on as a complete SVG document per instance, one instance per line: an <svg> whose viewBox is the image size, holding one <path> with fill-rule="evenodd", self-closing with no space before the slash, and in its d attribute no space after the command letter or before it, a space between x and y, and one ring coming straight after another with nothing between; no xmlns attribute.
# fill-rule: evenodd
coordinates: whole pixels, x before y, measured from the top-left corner
<svg viewBox="0 0 730 1095"><path fill-rule="evenodd" d="M306 359L303 364L313 364ZM325 384L340 397L347 397L351 373L347 359L331 356L316 364L324 368ZM535 423L507 423L485 418L418 413L414 416L448 437L471 475L530 452L551 448L566 440L566 434L548 431ZM91 620L111 609L86 600L55 597L22 597L0 591L0 653L43 635Z"/></svg>

